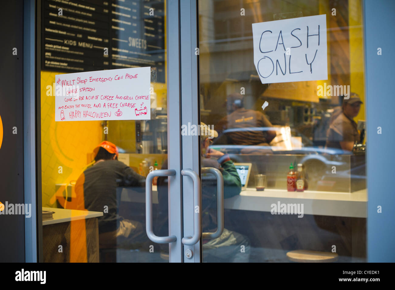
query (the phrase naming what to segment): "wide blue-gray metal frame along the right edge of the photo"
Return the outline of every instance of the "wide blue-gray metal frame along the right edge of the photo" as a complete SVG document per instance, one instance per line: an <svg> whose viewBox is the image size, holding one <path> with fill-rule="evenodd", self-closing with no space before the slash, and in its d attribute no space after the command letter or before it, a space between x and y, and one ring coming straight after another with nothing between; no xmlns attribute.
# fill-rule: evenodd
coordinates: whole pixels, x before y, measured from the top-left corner
<svg viewBox="0 0 395 290"><path fill-rule="evenodd" d="M391 8L392 7L392 8ZM395 198L393 195L393 1L363 2L365 41L365 96L367 120L367 259L394 262ZM380 29L377 29L380 27ZM377 54L378 48L382 55ZM378 134L378 127L382 128ZM382 212L378 213L378 206Z"/></svg>

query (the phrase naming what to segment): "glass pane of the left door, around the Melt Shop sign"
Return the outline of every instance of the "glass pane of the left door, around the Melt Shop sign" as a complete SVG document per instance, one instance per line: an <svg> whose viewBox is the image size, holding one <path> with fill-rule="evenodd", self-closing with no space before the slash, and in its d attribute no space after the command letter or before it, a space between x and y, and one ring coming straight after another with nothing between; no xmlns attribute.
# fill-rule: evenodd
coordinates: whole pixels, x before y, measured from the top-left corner
<svg viewBox="0 0 395 290"><path fill-rule="evenodd" d="M165 2L41 2L43 260L167 262L145 233L144 203L147 174L167 160ZM151 68L150 120L74 121L66 109L56 119L55 75L133 67Z"/></svg>

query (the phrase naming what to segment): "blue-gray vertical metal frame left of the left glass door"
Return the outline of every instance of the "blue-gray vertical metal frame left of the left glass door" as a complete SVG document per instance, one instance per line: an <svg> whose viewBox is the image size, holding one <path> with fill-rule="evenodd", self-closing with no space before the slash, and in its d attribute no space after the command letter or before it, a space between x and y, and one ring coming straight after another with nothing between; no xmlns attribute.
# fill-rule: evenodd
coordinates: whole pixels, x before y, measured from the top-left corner
<svg viewBox="0 0 395 290"><path fill-rule="evenodd" d="M25 219L25 262L42 262L41 221L41 132L40 128L40 23L39 3L23 1L23 172L24 202L32 204L32 216ZM41 257L41 258L40 258Z"/></svg>

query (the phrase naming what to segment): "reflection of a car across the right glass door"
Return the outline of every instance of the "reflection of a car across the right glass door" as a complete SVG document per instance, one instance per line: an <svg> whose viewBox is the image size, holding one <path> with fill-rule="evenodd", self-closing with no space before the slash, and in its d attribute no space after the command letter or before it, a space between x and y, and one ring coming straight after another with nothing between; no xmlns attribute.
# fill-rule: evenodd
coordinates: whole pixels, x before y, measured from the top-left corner
<svg viewBox="0 0 395 290"><path fill-rule="evenodd" d="M230 131L276 131L276 137L270 144L262 145L237 145L224 144L227 142L226 134ZM225 137L224 137L225 136ZM296 137L296 138L295 138ZM213 144L209 146L215 150L229 153L231 159L235 162L264 162L265 165L257 165L260 170L271 171L273 178L277 181L286 178L284 172L288 169L290 163L302 163L309 176L309 187L314 189L317 183L323 180L325 175L332 175L333 166L343 172L350 170L352 152L344 151L337 148L322 148L314 146L313 142L305 135L297 132L290 127L254 127L254 128L237 128L228 129L221 133ZM248 155L250 155L248 157ZM262 157L258 157L260 155ZM281 156L280 156L281 155ZM364 164L363 164L364 165ZM266 170L266 168L268 170ZM336 178L336 176L333 176ZM340 178L340 175L338 176ZM342 175L344 177L344 175ZM270 177L268 177L270 178ZM350 175L349 177L350 178ZM285 182L285 180L284 180ZM278 186L280 187L280 186ZM346 191L346 189L344 189Z"/></svg>

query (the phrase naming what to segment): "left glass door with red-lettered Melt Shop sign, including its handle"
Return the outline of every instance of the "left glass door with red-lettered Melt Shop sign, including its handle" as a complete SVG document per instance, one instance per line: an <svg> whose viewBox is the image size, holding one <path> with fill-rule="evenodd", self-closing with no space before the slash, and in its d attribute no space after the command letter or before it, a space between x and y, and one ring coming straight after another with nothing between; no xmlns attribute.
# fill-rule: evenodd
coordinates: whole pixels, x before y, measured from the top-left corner
<svg viewBox="0 0 395 290"><path fill-rule="evenodd" d="M38 2L41 261L181 262L178 4L77 2Z"/></svg>

